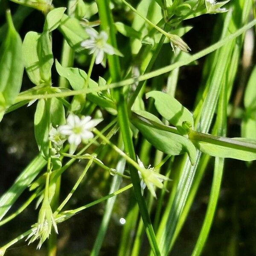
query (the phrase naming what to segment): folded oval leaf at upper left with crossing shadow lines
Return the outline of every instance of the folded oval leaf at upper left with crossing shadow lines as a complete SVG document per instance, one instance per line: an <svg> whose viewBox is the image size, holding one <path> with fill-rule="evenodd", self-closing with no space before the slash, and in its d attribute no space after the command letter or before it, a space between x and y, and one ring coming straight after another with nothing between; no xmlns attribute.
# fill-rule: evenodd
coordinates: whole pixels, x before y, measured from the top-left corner
<svg viewBox="0 0 256 256"><path fill-rule="evenodd" d="M23 58L29 79L35 85L51 86L53 64L52 42L49 32L30 31L23 41Z"/></svg>

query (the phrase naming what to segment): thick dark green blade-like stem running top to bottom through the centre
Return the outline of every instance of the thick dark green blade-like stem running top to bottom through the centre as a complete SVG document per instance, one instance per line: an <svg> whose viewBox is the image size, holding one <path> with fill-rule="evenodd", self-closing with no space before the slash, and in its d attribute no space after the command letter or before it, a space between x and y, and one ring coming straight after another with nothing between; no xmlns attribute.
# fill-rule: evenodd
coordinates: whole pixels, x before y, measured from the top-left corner
<svg viewBox="0 0 256 256"><path fill-rule="evenodd" d="M110 10L110 1L109 0L96 0L99 17L101 20L102 29L109 29L109 42L110 44L117 48L116 44L116 35L115 35L115 27L113 25L113 17ZM121 68L119 63L119 58L116 55L108 55L108 64L109 70L111 74L111 78L114 82L121 80ZM128 108L126 104L126 99L124 97L122 89L113 90L113 96L116 100L116 110L117 110L117 118L119 122L120 132L122 134L122 139L125 146L125 152L129 154L131 159L135 162L136 155L134 151L134 145L132 141L131 131L129 129L130 122L128 117ZM136 162L135 162L136 163ZM137 164L137 163L136 163ZM129 169L131 173L131 180L134 186L134 192L137 199L137 203L140 208L140 212L143 218L145 230L148 236L149 243L151 245L152 251L155 255L160 255L160 251L158 249L156 237L154 234L154 230L151 224L151 220L148 214L147 205L145 203L145 199L141 195L141 187L140 187L140 177L136 168L131 163L129 164Z"/></svg>

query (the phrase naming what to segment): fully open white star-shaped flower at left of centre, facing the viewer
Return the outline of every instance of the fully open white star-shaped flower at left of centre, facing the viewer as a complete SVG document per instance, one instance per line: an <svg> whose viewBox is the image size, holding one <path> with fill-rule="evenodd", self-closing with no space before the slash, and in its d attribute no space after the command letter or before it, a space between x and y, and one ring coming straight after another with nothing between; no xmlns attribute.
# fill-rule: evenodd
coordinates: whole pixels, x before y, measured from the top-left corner
<svg viewBox="0 0 256 256"><path fill-rule="evenodd" d="M74 114L70 114L67 117L67 124L59 126L58 131L62 135L68 136L70 154L76 151L77 146L82 140L93 138L93 133L90 130L101 121L102 119L91 120L90 116L82 116L80 119L79 116Z"/></svg>

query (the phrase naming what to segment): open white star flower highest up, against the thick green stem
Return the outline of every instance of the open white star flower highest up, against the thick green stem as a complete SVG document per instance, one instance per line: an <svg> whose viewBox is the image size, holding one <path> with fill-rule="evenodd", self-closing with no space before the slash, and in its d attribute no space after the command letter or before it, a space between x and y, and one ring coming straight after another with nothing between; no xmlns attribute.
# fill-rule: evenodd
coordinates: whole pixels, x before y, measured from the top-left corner
<svg viewBox="0 0 256 256"><path fill-rule="evenodd" d="M81 47L90 49L89 53L94 53L96 55L95 64L102 63L105 52L109 55L113 55L115 53L114 48L107 43L108 34L105 31L98 33L92 28L87 28L85 31L90 38L82 41Z"/></svg>

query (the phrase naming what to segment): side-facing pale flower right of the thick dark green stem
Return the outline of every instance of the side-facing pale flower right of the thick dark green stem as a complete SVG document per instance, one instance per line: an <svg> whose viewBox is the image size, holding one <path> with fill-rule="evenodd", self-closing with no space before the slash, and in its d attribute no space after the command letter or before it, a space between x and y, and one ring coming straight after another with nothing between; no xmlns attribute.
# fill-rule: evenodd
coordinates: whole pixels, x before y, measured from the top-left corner
<svg viewBox="0 0 256 256"><path fill-rule="evenodd" d="M158 188L163 188L163 181L169 180L169 178L165 177L164 175L161 175L160 173L156 172L154 167L148 166L147 169L145 169L144 164L140 160L140 158L137 156L137 161L140 166L140 169L138 170L139 176L141 178L140 186L142 191L147 186L151 194L156 198L156 192L154 190L154 186L157 186Z"/></svg>

